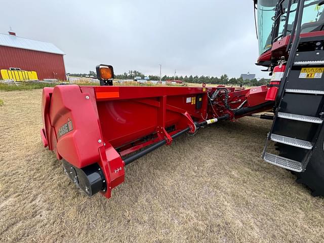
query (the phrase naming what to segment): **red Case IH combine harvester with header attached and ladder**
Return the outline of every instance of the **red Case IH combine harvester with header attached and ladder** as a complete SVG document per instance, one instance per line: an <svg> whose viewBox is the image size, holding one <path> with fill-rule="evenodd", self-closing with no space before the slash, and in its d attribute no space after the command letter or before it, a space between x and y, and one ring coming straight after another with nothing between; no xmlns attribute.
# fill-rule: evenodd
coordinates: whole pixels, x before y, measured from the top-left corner
<svg viewBox="0 0 324 243"><path fill-rule="evenodd" d="M182 134L272 110L273 116L260 115L273 119L263 159L290 170L313 195L324 195L322 4L254 0L257 65L272 74L268 86L114 87L112 66L99 65L101 86L45 88L44 146L63 159L65 173L86 194L109 198L124 182L126 165ZM270 140L278 155L267 151Z"/></svg>

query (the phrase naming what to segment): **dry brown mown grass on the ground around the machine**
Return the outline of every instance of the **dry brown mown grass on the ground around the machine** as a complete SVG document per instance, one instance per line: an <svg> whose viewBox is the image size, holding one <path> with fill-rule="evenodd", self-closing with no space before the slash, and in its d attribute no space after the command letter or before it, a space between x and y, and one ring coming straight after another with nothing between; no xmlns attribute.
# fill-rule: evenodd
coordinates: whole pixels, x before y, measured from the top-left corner
<svg viewBox="0 0 324 243"><path fill-rule="evenodd" d="M41 93L0 93L0 242L324 241L323 198L260 158L270 121L180 137L87 197L42 147Z"/></svg>

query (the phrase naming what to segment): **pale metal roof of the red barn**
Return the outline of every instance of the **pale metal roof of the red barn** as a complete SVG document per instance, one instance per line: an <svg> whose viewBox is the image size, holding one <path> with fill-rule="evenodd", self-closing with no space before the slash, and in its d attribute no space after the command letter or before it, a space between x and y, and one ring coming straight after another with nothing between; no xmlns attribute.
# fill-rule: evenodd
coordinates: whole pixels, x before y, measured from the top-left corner
<svg viewBox="0 0 324 243"><path fill-rule="evenodd" d="M64 55L65 53L52 43L35 41L15 35L0 33L0 46L21 48L39 52L55 53Z"/></svg>

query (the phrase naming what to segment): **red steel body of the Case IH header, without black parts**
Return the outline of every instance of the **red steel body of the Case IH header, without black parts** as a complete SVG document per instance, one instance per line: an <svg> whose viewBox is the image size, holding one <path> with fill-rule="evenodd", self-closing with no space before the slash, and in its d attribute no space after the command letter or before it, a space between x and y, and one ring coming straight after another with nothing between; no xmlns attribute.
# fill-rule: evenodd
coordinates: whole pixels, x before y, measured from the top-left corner
<svg viewBox="0 0 324 243"><path fill-rule="evenodd" d="M209 96L217 88L77 85L45 88L42 140L58 159L64 158L76 168L97 163L107 184L102 194L109 198L111 189L124 182L122 156L162 140L171 144L171 136L181 130L189 127L189 133L194 133L195 122L224 114L230 119L237 118L232 110L224 108L221 98L211 105ZM262 104L267 89L266 86L227 88L228 104L233 109L242 102L245 107ZM199 106L197 102L201 102Z"/></svg>

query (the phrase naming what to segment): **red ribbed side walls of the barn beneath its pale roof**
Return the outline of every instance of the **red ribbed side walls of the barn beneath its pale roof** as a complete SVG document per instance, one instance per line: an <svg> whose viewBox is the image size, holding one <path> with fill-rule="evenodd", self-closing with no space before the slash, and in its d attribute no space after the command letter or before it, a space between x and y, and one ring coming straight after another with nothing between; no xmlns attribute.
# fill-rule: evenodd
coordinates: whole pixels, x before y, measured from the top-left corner
<svg viewBox="0 0 324 243"><path fill-rule="evenodd" d="M35 71L39 80L44 78L65 79L63 55L0 46L0 69L18 67Z"/></svg>

